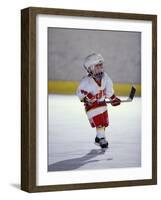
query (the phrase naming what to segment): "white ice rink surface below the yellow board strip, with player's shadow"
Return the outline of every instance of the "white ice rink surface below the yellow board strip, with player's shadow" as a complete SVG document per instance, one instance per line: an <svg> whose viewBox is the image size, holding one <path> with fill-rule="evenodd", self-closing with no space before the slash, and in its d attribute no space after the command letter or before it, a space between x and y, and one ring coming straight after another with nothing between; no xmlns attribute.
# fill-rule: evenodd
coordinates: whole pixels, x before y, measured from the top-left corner
<svg viewBox="0 0 161 200"><path fill-rule="evenodd" d="M49 95L48 171L141 167L141 98L108 105L108 113L109 148L103 153L77 96Z"/></svg>

